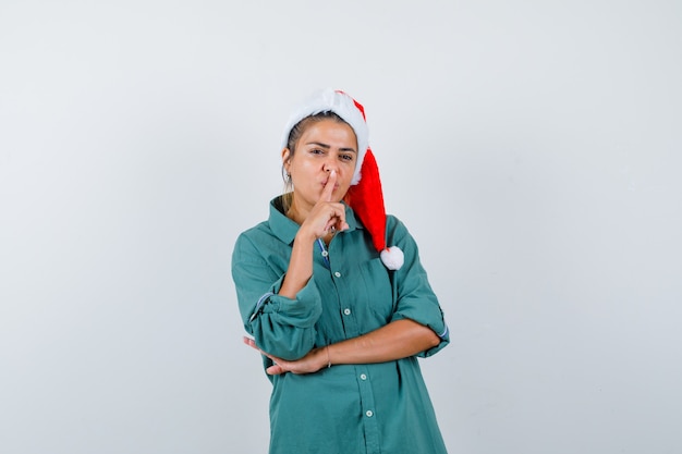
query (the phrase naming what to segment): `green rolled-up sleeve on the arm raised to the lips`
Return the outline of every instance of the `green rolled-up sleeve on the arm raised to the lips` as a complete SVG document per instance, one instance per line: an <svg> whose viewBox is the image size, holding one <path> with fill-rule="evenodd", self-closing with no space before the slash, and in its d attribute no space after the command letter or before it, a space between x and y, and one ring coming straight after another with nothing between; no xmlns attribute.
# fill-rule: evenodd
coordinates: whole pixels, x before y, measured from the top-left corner
<svg viewBox="0 0 682 454"><path fill-rule="evenodd" d="M244 328L263 351L292 360L314 347L322 306L314 278L293 299L278 295L284 272L273 269L255 244L240 235L232 254L232 278Z"/></svg>

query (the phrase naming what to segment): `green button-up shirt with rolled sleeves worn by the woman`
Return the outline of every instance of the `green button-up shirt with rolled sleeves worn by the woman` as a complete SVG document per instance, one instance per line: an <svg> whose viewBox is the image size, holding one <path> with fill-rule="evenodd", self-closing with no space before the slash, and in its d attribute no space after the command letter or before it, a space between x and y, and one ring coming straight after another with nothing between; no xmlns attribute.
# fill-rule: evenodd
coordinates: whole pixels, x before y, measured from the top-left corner
<svg viewBox="0 0 682 454"><path fill-rule="evenodd" d="M313 277L295 299L279 296L299 230L280 209L278 197L269 219L240 235L232 256L244 327L263 351L297 359L398 319L415 320L440 336L438 346L418 356L449 343L417 246L392 216L387 244L403 250L402 268L383 266L369 232L346 207L350 229L337 233L328 250L316 244ZM271 365L264 356L264 367ZM416 357L268 378L270 454L446 453Z"/></svg>

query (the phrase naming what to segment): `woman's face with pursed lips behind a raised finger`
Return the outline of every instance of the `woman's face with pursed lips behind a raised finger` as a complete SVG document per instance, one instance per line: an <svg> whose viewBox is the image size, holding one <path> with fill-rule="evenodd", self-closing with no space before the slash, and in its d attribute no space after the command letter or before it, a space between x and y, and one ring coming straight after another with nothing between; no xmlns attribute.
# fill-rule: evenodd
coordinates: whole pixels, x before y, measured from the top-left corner
<svg viewBox="0 0 682 454"><path fill-rule="evenodd" d="M292 208L306 214L319 200L332 170L337 173L332 201L345 196L357 162L357 139L346 123L321 120L303 132L293 156L284 148L282 160L294 187Z"/></svg>

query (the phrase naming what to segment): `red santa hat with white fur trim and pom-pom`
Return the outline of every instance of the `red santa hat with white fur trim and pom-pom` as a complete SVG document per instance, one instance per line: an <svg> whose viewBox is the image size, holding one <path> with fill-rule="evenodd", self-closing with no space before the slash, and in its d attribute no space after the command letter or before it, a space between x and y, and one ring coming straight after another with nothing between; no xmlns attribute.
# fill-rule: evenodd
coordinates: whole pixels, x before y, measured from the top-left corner
<svg viewBox="0 0 682 454"><path fill-rule="evenodd" d="M355 132L357 138L357 164L346 194L349 206L355 211L372 235L374 247L380 253L381 261L390 270L402 267L404 257L398 246L386 245L386 209L379 179L379 168L369 148L369 133L365 109L343 91L325 89L314 94L294 110L287 127L282 147L289 142L291 130L307 116L321 112L333 112L341 116Z"/></svg>

